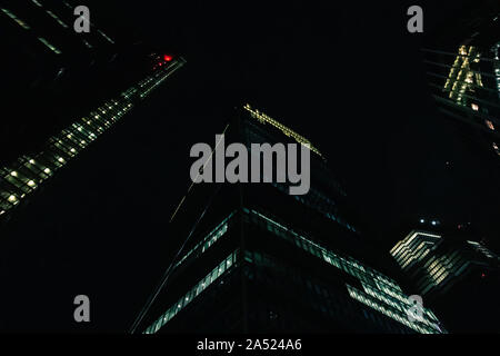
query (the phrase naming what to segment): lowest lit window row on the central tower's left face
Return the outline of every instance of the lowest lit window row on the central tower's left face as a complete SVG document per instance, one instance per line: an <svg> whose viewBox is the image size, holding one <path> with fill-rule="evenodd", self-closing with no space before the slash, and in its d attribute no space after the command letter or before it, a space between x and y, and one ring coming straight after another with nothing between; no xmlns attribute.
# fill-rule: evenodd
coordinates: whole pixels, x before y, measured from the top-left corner
<svg viewBox="0 0 500 356"><path fill-rule="evenodd" d="M238 250L229 255L222 260L219 266L213 268L204 278L198 281L184 296L182 296L176 304L173 304L163 315L160 316L151 326L149 326L144 334L154 334L168 322L170 322L180 310L190 304L197 296L207 289L213 281L221 277L226 271L237 263Z"/></svg>

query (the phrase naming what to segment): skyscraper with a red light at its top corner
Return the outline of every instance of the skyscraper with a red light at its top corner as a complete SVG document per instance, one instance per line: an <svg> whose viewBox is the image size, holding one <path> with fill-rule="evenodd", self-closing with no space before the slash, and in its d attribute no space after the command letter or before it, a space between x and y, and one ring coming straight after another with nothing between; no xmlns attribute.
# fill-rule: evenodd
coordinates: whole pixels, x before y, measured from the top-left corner
<svg viewBox="0 0 500 356"><path fill-rule="evenodd" d="M0 122L0 221L184 65L92 20L89 33L77 33L78 4L0 6L2 109L10 112Z"/></svg>

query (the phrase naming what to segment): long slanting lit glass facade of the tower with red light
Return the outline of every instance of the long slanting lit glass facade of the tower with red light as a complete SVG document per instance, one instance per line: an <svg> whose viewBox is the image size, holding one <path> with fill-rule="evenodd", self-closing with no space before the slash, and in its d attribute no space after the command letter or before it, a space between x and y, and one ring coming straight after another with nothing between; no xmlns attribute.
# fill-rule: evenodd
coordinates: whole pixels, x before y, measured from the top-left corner
<svg viewBox="0 0 500 356"><path fill-rule="evenodd" d="M154 71L119 97L104 101L88 116L50 137L42 151L21 156L10 166L0 167L0 217L12 210L57 170L120 121L133 108L136 100L144 99L183 63L183 59L179 59L168 68Z"/></svg>

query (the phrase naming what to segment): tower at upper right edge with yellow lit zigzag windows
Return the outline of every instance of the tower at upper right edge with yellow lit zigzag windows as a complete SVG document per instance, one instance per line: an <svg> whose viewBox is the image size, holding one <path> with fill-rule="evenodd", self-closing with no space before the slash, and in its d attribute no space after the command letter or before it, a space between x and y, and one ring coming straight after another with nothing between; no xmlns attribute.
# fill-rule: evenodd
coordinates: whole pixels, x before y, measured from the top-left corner
<svg viewBox="0 0 500 356"><path fill-rule="evenodd" d="M467 2L422 49L438 109L500 159L500 3Z"/></svg>

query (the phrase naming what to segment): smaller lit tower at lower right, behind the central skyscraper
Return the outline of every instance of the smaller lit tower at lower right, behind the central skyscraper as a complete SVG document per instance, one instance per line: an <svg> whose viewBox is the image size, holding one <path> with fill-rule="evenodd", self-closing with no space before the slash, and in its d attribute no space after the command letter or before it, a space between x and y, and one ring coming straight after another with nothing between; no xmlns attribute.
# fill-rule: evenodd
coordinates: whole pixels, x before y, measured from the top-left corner
<svg viewBox="0 0 500 356"><path fill-rule="evenodd" d="M450 332L500 330L500 258L482 243L413 230L390 254Z"/></svg>

